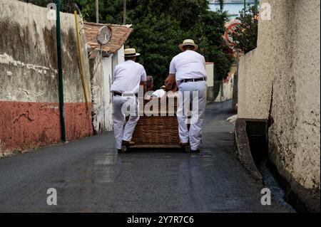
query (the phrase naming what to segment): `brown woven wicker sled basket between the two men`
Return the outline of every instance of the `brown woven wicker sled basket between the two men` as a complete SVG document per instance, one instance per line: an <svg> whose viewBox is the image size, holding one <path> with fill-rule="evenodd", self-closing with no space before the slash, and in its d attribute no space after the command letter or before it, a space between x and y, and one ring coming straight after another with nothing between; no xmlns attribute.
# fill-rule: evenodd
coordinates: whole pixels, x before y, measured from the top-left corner
<svg viewBox="0 0 321 227"><path fill-rule="evenodd" d="M148 104L152 107L146 108ZM132 141L136 143L135 147L180 147L176 117L177 98L153 99L145 102L144 107L145 110L141 110L141 117L133 132Z"/></svg>

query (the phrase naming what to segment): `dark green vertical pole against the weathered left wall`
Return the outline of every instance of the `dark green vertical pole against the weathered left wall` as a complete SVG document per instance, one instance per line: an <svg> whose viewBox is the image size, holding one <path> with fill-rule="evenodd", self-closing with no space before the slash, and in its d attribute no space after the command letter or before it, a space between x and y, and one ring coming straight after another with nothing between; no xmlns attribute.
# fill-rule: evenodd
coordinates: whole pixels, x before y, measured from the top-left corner
<svg viewBox="0 0 321 227"><path fill-rule="evenodd" d="M65 115L63 109L63 72L61 56L61 28L60 28L60 0L56 0L56 35L57 35L57 62L58 62L58 92L59 113L61 126L61 140L66 142Z"/></svg>

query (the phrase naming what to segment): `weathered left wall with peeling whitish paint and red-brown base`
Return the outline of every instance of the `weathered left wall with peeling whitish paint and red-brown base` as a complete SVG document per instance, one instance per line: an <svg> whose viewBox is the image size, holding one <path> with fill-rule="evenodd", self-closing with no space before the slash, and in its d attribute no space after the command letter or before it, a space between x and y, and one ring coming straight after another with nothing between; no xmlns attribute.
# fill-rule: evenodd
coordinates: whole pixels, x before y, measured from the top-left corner
<svg viewBox="0 0 321 227"><path fill-rule="evenodd" d="M56 21L48 9L0 0L0 156L60 141ZM92 134L81 85L73 14L61 14L67 139ZM86 41L81 33L88 95ZM91 104L89 105L91 107Z"/></svg>

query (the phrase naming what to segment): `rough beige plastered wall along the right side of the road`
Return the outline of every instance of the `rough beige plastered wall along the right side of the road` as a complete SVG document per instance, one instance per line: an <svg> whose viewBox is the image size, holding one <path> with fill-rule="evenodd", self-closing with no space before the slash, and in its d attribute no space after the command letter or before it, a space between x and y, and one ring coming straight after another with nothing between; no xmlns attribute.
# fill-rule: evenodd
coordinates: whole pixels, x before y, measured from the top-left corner
<svg viewBox="0 0 321 227"><path fill-rule="evenodd" d="M258 48L240 59L238 117L272 119L269 155L291 184L320 191L320 1L270 0Z"/></svg>

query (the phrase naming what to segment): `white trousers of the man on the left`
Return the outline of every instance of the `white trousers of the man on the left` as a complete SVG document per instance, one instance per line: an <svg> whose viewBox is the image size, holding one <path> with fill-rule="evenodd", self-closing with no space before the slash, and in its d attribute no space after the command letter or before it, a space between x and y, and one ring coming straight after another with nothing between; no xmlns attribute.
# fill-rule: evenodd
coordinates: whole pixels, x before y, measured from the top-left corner
<svg viewBox="0 0 321 227"><path fill-rule="evenodd" d="M128 108L127 108L128 107ZM128 111L128 122L126 122L126 112ZM123 140L131 141L133 137L133 131L139 120L138 116L138 99L136 96L124 97L113 96L113 133L116 139L116 148L121 149L121 143ZM125 126L124 126L125 125Z"/></svg>

